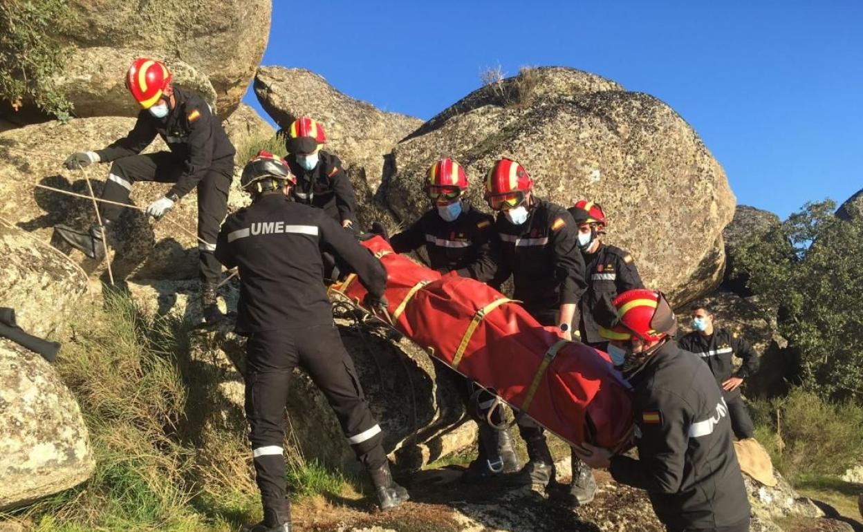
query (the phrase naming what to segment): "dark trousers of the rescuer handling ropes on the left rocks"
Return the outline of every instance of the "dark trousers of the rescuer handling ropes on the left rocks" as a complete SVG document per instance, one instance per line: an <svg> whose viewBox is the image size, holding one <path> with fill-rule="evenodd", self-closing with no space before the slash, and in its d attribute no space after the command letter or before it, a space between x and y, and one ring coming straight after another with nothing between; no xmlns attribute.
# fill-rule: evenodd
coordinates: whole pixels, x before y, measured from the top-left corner
<svg viewBox="0 0 863 532"><path fill-rule="evenodd" d="M223 164L219 164L219 163ZM213 256L219 226L228 212L228 191L233 178L233 157L213 161L205 178L198 181L198 241L201 280L217 283L222 265ZM171 152L130 155L113 162L108 180L105 181L102 197L112 202L128 203L132 185L137 181L176 183L186 171L185 160ZM115 221L123 207L102 203L101 212L105 220Z"/></svg>

